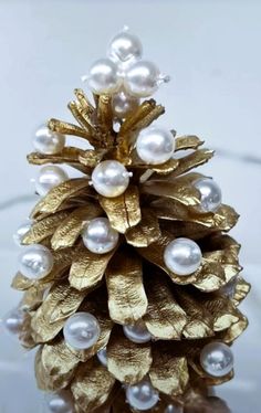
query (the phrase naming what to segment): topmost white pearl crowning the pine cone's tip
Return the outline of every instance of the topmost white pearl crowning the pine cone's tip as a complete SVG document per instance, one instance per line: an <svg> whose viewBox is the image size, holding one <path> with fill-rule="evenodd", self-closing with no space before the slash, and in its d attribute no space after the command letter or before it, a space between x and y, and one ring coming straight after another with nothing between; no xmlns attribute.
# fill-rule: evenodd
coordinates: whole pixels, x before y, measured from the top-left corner
<svg viewBox="0 0 261 413"><path fill-rule="evenodd" d="M143 44L135 34L124 30L113 38L107 54L116 63L133 63L142 57Z"/></svg>

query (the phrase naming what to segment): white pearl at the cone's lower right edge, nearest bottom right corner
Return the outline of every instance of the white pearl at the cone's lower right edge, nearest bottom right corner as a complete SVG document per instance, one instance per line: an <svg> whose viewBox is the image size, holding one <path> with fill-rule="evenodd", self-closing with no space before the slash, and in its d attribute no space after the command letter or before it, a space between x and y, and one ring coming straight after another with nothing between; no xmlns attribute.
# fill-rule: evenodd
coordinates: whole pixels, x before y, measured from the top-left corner
<svg viewBox="0 0 261 413"><path fill-rule="evenodd" d="M200 363L208 374L220 378L232 370L233 353L230 347L223 342L210 342L203 347L200 353Z"/></svg>

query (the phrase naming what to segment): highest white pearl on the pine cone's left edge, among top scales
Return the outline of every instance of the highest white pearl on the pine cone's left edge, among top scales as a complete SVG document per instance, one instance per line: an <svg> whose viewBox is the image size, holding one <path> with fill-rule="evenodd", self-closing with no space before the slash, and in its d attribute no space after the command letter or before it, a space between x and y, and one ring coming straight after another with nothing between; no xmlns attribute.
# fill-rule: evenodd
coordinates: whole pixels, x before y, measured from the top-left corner
<svg viewBox="0 0 261 413"><path fill-rule="evenodd" d="M45 125L42 125L33 137L33 146L40 153L59 153L63 150L64 145L65 136L51 131Z"/></svg>

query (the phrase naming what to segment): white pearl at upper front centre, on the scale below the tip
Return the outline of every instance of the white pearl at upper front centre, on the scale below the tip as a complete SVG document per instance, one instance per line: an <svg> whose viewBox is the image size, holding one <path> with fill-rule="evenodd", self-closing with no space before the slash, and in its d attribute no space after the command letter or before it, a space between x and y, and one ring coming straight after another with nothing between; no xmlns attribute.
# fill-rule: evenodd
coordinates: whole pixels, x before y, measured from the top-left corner
<svg viewBox="0 0 261 413"><path fill-rule="evenodd" d="M129 183L129 173L117 160L104 160L92 173L92 183L103 197L114 198L125 192Z"/></svg>

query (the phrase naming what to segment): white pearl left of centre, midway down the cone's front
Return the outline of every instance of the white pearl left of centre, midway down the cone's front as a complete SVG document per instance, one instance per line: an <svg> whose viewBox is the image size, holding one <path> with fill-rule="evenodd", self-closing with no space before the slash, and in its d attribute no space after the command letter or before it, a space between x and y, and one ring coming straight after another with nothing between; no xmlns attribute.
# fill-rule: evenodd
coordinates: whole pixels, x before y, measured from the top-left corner
<svg viewBox="0 0 261 413"><path fill-rule="evenodd" d="M118 242L115 231L107 218L95 218L82 231L83 243L94 254L106 254L114 250Z"/></svg>

